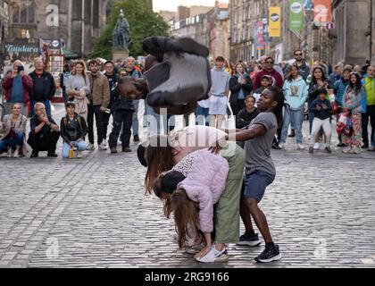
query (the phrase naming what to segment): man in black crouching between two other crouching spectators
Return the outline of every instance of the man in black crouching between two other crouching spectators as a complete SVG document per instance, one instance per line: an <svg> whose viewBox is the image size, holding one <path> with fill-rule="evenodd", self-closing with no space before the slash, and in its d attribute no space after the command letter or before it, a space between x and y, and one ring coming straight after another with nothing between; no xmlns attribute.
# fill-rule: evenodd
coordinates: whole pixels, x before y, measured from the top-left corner
<svg viewBox="0 0 375 286"><path fill-rule="evenodd" d="M31 158L36 158L39 151L47 151L49 157L57 157L56 144L60 137L59 126L46 114L46 106L37 103L35 115L30 121L28 144L32 148Z"/></svg>

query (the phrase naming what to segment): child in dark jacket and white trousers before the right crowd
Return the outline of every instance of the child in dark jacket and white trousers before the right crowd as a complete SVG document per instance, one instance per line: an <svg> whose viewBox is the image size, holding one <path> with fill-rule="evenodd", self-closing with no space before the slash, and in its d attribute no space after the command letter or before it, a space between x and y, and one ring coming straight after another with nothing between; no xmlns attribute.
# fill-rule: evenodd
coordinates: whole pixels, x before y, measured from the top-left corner
<svg viewBox="0 0 375 286"><path fill-rule="evenodd" d="M312 136L310 139L310 148L309 153L313 154L313 146L315 143L315 138L318 132L321 130L321 127L324 130L324 134L327 138L327 145L325 147L327 153L331 154L332 150L330 149L330 138L332 135L329 117L332 112L332 106L330 105L329 100L327 99L327 89L321 88L319 97L312 101L310 106L310 113L314 115L312 121Z"/></svg>

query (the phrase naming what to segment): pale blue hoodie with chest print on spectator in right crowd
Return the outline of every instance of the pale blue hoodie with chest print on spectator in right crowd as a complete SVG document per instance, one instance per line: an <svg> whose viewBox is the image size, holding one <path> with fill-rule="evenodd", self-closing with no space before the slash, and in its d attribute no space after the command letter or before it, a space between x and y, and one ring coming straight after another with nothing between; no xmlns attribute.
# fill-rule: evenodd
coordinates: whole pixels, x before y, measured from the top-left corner
<svg viewBox="0 0 375 286"><path fill-rule="evenodd" d="M304 103L309 95L306 82L301 76L298 80L285 80L284 82L285 100L290 105L291 110L300 110L304 107ZM297 88L296 94L292 93L293 89Z"/></svg>

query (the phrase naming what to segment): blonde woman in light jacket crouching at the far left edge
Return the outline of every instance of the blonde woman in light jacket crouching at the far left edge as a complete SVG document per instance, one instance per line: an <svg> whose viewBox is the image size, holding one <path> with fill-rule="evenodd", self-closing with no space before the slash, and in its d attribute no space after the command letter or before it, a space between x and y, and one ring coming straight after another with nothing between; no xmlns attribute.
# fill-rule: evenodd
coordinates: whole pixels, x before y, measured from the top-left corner
<svg viewBox="0 0 375 286"><path fill-rule="evenodd" d="M13 104L12 114L5 115L2 122L6 135L0 140L0 154L8 152L8 157L18 158L24 154L21 147L24 146L27 118L21 114L21 110L21 103Z"/></svg>

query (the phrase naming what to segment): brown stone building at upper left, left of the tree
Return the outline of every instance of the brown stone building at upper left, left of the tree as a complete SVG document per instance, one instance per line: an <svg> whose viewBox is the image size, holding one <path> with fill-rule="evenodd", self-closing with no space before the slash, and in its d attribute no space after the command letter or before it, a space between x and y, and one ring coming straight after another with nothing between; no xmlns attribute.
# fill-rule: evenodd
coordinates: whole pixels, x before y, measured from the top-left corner
<svg viewBox="0 0 375 286"><path fill-rule="evenodd" d="M9 42L59 39L65 49L87 56L105 26L112 0L11 0Z"/></svg>

